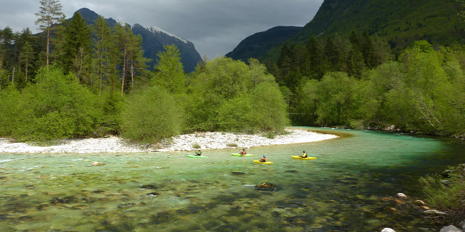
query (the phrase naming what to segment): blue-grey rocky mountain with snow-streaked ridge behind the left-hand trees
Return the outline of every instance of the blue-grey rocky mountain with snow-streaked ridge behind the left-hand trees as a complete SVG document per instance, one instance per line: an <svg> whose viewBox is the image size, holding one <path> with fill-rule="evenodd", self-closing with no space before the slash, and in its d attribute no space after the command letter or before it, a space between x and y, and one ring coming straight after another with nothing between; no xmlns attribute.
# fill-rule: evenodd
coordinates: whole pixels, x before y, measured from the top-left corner
<svg viewBox="0 0 465 232"><path fill-rule="evenodd" d="M82 17L86 20L87 24L94 24L98 14L88 8L81 8L77 10ZM106 19L110 26L117 24L116 20L111 17ZM131 29L135 35L140 34L142 36L142 49L144 50L144 57L152 59L150 63L150 70L153 70L156 60L158 59L158 52L164 52L163 45L176 45L181 54L181 61L184 65L185 72L192 72L195 70L195 66L199 61L202 61L202 57L195 50L192 42L175 36L172 33L163 31L156 26L149 26L147 28L140 26L140 24L134 24Z"/></svg>

